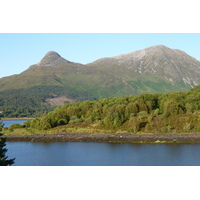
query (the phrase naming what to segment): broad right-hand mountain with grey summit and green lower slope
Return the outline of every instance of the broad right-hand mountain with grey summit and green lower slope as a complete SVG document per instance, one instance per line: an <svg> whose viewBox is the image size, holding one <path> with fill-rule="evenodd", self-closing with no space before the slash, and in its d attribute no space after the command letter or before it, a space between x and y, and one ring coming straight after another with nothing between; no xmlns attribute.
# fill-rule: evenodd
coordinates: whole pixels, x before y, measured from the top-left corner
<svg viewBox="0 0 200 200"><path fill-rule="evenodd" d="M163 45L102 58L90 65L109 68L112 75L122 78L137 94L185 91L200 83L200 62Z"/></svg>

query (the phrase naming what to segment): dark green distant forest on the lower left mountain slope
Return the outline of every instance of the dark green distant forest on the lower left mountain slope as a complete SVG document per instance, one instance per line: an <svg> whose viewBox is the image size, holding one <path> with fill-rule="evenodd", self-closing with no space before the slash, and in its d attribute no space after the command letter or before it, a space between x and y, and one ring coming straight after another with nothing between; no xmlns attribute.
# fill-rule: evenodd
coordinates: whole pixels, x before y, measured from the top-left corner
<svg viewBox="0 0 200 200"><path fill-rule="evenodd" d="M63 86L33 86L0 91L0 117L40 117L55 107L46 102L54 95L67 96L76 101L94 100L88 92L79 92Z"/></svg>

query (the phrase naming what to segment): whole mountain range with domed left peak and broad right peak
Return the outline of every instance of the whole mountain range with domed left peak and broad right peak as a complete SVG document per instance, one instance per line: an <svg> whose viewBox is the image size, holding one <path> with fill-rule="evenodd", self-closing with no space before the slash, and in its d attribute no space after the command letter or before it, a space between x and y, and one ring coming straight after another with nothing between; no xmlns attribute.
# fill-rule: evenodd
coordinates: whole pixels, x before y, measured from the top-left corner
<svg viewBox="0 0 200 200"><path fill-rule="evenodd" d="M5 105L23 107L27 102L38 108L146 92L186 91L199 84L200 61L163 45L86 65L50 51L21 74L0 79L0 110ZM15 102L10 100L13 98Z"/></svg>

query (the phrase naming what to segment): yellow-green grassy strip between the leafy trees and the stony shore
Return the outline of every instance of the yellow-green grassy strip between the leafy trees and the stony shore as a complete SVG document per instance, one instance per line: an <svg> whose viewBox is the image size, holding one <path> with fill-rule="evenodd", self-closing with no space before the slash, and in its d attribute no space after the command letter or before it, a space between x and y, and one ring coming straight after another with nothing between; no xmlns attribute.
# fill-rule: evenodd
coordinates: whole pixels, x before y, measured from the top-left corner
<svg viewBox="0 0 200 200"><path fill-rule="evenodd" d="M184 120L182 119L181 121ZM180 128L180 125L176 128L169 128L166 127L165 122L161 122L158 119L155 122L157 124L156 131L149 132L145 129L142 129L138 132L133 132L131 130L127 130L126 125L121 127L104 127L101 122L79 122L79 123L72 123L72 124L66 124L66 125L60 125L51 129L47 130L39 130L34 129L31 127L22 127L22 125L18 126L10 126L9 128L4 127L2 133L4 135L52 135L52 134L65 134L65 133L90 133L90 134L147 134L147 135L165 135L165 134L171 134L173 136L174 134L195 134L198 133L196 129L190 129L187 131L183 131L183 129ZM164 128L163 128L164 127ZM172 126L170 126L172 127Z"/></svg>

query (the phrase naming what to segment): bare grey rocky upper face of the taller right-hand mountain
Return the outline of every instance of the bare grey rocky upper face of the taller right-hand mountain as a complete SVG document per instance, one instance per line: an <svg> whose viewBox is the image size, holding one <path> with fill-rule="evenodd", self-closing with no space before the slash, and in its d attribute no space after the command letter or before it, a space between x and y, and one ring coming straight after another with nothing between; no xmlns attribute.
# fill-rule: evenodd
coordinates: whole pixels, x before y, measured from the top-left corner
<svg viewBox="0 0 200 200"><path fill-rule="evenodd" d="M102 58L90 63L109 69L121 69L132 78L154 77L175 85L177 81L193 87L200 84L200 62L178 49L164 45L148 47L114 57Z"/></svg>

